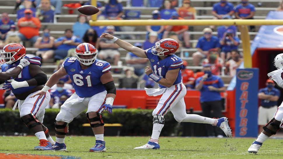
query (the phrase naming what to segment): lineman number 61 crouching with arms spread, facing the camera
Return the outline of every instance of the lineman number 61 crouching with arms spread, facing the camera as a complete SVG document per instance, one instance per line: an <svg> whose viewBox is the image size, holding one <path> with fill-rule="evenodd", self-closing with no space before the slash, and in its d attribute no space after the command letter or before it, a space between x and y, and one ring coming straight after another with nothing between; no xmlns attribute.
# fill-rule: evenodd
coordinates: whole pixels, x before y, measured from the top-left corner
<svg viewBox="0 0 283 159"><path fill-rule="evenodd" d="M110 73L111 65L106 61L96 59L97 50L89 43L78 45L75 54L76 57L69 57L63 62L62 67L48 79L41 91L31 96L31 98L38 95L43 96L50 87L67 74L74 84L75 93L64 102L56 117L56 143L43 150L66 151L64 138L68 133L68 124L83 110L88 109L86 117L96 138L95 146L89 151L105 151L104 122L100 113L104 110L112 113L112 105L116 96L116 87Z"/></svg>

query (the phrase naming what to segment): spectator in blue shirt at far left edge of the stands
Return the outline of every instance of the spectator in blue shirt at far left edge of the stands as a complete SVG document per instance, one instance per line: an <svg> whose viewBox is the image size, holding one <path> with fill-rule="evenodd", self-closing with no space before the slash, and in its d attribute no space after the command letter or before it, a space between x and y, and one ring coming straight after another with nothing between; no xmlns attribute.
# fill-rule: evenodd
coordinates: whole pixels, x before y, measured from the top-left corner
<svg viewBox="0 0 283 159"><path fill-rule="evenodd" d="M11 25L14 25L15 22L9 19L7 12L2 13L2 18L0 20L0 36L1 40L5 40L6 34L11 29Z"/></svg>

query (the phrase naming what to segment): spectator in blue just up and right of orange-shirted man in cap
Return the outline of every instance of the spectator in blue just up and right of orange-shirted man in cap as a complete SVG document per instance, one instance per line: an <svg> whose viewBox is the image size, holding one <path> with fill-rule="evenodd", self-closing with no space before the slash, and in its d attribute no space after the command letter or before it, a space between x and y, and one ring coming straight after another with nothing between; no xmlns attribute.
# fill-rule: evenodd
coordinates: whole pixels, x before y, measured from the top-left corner
<svg viewBox="0 0 283 159"><path fill-rule="evenodd" d="M54 22L54 7L51 6L50 0L41 0L40 5L36 9L36 17L43 23Z"/></svg>

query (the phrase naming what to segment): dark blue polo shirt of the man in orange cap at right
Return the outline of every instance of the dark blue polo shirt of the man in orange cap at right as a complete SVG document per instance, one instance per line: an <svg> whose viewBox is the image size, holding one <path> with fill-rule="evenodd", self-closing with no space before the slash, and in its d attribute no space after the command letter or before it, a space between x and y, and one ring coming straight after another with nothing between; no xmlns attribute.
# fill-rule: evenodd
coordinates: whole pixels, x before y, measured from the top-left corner
<svg viewBox="0 0 283 159"><path fill-rule="evenodd" d="M278 96L280 97L280 91L276 88L272 88L270 91L268 91L268 88L262 88L258 91L258 93L264 93L266 95L272 95L272 96ZM277 105L277 101L270 101L267 99L261 99L261 106L265 108L270 108Z"/></svg>

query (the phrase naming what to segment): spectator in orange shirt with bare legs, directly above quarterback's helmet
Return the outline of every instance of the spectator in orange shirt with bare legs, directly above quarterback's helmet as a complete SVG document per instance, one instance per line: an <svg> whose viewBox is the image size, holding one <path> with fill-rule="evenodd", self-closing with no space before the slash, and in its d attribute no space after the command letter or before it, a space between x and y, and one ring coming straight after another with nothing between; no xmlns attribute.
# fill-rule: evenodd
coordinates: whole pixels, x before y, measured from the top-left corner
<svg viewBox="0 0 283 159"><path fill-rule="evenodd" d="M172 20L184 20L184 18L179 17L177 12L172 12L171 18ZM163 38L167 38L170 31L174 31L178 34L178 38L182 41L184 41L186 48L190 47L190 35L188 33L188 26L182 25L182 26L172 26L167 25L165 26Z"/></svg>

